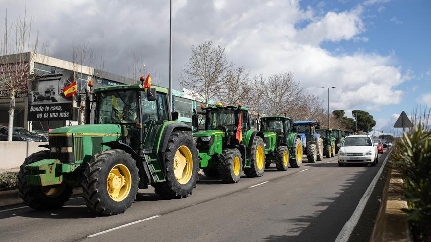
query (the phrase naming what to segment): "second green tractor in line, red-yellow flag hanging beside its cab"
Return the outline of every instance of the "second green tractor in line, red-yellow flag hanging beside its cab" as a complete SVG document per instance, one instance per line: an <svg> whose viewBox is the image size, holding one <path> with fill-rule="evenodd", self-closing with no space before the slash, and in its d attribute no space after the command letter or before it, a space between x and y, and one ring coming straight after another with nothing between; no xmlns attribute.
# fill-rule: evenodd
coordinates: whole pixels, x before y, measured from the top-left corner
<svg viewBox="0 0 431 242"><path fill-rule="evenodd" d="M197 114L205 116L205 129L198 131ZM259 177L265 171L263 132L252 130L248 110L238 106L202 107L193 110L193 137L199 150L200 167L206 176L219 176L225 183L236 183L244 171L247 177Z"/></svg>

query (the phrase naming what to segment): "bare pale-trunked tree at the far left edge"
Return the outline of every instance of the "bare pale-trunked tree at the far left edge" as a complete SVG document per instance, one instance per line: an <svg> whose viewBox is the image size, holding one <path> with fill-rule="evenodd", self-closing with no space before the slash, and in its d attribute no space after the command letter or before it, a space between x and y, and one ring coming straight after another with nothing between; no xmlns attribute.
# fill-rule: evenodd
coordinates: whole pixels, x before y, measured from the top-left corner
<svg viewBox="0 0 431 242"><path fill-rule="evenodd" d="M38 49L39 36L36 32L32 38L32 20L27 20L26 12L25 9L23 19L18 18L9 24L6 10L5 22L0 27L0 91L10 99L8 141L12 141L15 98L17 94L26 94L28 83L37 76L31 72L31 65Z"/></svg>

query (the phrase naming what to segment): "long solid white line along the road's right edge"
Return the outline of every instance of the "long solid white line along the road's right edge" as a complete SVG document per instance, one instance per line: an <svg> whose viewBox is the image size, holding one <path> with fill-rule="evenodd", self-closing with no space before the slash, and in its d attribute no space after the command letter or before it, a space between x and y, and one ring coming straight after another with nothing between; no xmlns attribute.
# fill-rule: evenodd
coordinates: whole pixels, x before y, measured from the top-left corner
<svg viewBox="0 0 431 242"><path fill-rule="evenodd" d="M362 215L362 212L365 209L365 205L367 204L368 199L370 198L371 193L373 192L374 187L376 186L377 180L382 174L384 165L386 164L386 161L389 158L389 155L391 154L391 152L392 150L390 150L389 153L386 155L386 158L384 159L382 166L380 167L376 176L374 176L374 179L371 181L371 184L368 186L362 198L360 198L358 206L355 208L355 211L353 211L352 216L346 222L346 224L344 224L344 227L341 229L340 233L335 239L336 242L346 242L349 240L350 235L352 234L353 228L355 228L356 224L358 223L360 216Z"/></svg>

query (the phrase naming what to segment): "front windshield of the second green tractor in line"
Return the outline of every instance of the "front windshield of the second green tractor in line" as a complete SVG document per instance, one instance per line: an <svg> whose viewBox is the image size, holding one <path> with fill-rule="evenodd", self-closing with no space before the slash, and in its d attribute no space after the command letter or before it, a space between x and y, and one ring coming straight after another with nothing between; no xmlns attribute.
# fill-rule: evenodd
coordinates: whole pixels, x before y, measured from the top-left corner
<svg viewBox="0 0 431 242"><path fill-rule="evenodd" d="M238 111L226 109L214 109L207 112L205 118L206 130L224 130L236 131L238 120Z"/></svg>

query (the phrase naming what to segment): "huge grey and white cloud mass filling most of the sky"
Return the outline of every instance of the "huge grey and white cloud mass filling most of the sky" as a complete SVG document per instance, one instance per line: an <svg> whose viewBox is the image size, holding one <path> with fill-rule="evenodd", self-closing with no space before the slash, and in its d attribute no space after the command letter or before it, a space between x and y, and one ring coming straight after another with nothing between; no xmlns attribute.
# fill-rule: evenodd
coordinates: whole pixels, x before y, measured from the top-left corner
<svg viewBox="0 0 431 242"><path fill-rule="evenodd" d="M82 33L96 56L103 54L106 71L124 75L133 54L142 53L154 79L168 85L168 1L10 1L9 18L22 14L25 4L50 55L69 60L72 42L79 42ZM348 54L321 47L322 42L369 41L361 36L366 34L364 11L355 7L320 15L312 7L301 8L298 0L174 0L174 88L180 88L177 81L191 45L212 39L252 75L292 71L302 87L322 98L326 93L320 87L336 86L331 90L334 109L399 103L403 92L396 87L403 79L401 67L393 66L394 53Z"/></svg>

